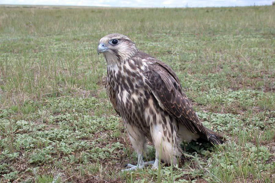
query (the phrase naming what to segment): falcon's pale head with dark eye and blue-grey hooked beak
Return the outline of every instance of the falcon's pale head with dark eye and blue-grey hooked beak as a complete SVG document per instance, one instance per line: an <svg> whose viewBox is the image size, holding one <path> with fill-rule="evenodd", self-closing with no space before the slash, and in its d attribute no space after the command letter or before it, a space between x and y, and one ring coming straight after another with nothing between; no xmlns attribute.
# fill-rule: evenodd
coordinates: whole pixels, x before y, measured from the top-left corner
<svg viewBox="0 0 275 183"><path fill-rule="evenodd" d="M99 40L97 54L103 53L107 63L127 60L138 52L132 40L122 34L108 34Z"/></svg>

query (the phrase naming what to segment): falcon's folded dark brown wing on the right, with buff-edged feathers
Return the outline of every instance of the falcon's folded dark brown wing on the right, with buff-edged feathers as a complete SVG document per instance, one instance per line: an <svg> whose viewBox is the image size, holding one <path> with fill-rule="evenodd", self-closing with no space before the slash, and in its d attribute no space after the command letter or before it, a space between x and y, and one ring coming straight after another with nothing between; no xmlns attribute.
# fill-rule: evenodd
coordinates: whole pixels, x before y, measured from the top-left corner
<svg viewBox="0 0 275 183"><path fill-rule="evenodd" d="M200 122L190 101L182 92L176 73L164 62L153 60L150 63L148 64L148 71L144 73L147 79L146 83L159 102L160 107L185 125L190 132L198 133L210 142L212 142L211 135L214 135L214 143L216 143L215 141L222 143L222 140L218 142L222 136L205 128Z"/></svg>

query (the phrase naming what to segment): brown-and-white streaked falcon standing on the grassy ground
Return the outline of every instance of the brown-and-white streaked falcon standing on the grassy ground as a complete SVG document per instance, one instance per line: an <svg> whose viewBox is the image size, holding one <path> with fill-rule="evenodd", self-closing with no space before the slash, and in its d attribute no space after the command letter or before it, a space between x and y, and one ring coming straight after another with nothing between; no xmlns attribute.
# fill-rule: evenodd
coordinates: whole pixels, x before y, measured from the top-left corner
<svg viewBox="0 0 275 183"><path fill-rule="evenodd" d="M107 94L124 121L129 139L138 153L130 171L159 162L177 164L182 141L223 143L223 137L204 127L176 73L164 62L138 50L127 36L112 33L102 37L97 53L107 62ZM144 162L147 140L156 149L155 161Z"/></svg>

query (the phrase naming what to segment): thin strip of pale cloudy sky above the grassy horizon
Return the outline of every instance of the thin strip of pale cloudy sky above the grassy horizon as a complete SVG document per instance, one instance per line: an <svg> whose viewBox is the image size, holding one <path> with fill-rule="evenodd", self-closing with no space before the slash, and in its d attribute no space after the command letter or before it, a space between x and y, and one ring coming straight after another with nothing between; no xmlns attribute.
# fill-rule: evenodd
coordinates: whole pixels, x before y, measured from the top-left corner
<svg viewBox="0 0 275 183"><path fill-rule="evenodd" d="M273 0L274 1L274 0ZM266 0L0 0L9 5L76 5L105 7L221 7L271 5Z"/></svg>

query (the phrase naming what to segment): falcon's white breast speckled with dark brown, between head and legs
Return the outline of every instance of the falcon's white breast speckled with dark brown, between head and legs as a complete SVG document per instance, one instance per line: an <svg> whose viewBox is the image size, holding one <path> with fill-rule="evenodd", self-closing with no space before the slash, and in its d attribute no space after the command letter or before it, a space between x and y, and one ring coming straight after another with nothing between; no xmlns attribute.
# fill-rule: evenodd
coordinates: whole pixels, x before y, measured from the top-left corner
<svg viewBox="0 0 275 183"><path fill-rule="evenodd" d="M141 128L146 135L150 134L144 111L151 94L141 70L130 66L128 62L108 65L107 80L116 93L117 106L124 123Z"/></svg>

